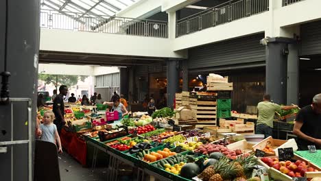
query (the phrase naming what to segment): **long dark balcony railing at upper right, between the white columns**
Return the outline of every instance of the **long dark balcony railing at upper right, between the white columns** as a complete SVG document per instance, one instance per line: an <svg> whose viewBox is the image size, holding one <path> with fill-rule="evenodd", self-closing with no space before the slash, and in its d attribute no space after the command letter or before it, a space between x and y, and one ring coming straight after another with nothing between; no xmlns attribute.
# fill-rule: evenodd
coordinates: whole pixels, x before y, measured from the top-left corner
<svg viewBox="0 0 321 181"><path fill-rule="evenodd" d="M228 1L176 22L176 37L269 10L269 0Z"/></svg>

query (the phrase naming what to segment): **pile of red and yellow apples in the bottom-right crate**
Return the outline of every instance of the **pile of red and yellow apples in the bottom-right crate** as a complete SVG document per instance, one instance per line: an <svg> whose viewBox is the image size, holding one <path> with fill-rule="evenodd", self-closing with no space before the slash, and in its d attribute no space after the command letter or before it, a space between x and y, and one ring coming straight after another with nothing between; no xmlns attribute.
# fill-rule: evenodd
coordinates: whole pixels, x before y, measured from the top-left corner
<svg viewBox="0 0 321 181"><path fill-rule="evenodd" d="M292 178L304 177L305 172L307 171L318 171L313 167L309 167L307 165L307 162L302 160L296 160L296 162L292 162L290 160L280 161L276 157L274 158L263 157L261 158L261 160L265 162L265 164L268 165L269 167L273 167L274 169L277 169L278 171L281 171L282 173Z"/></svg>

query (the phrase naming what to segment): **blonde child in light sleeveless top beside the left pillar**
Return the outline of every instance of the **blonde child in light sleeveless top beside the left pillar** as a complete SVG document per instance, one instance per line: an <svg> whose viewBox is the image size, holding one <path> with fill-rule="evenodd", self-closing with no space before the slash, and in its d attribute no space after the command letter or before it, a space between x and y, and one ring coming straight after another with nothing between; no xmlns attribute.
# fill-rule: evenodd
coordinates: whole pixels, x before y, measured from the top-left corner
<svg viewBox="0 0 321 181"><path fill-rule="evenodd" d="M43 115L43 123L39 126L42 132L40 139L55 144L58 143L58 152L62 153L60 137L56 125L53 124L53 119L55 119L55 114L51 110L47 110Z"/></svg>

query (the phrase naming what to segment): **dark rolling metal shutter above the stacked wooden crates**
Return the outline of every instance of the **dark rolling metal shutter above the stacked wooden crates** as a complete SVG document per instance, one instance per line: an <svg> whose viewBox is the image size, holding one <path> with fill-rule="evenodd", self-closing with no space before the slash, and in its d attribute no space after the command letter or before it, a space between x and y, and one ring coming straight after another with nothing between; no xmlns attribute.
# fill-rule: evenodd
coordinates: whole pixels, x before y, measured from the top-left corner
<svg viewBox="0 0 321 181"><path fill-rule="evenodd" d="M254 34L189 49L189 69L206 67L252 66L265 62L265 46L259 43L264 34Z"/></svg>

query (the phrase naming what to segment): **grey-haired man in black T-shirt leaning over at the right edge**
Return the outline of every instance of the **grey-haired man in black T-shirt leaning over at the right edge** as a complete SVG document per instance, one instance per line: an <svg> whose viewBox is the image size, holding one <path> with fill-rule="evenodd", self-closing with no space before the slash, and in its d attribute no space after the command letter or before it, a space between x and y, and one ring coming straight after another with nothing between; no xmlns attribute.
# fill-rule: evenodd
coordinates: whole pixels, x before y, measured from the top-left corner
<svg viewBox="0 0 321 181"><path fill-rule="evenodd" d="M315 95L312 104L298 112L293 133L298 136L300 150L307 150L308 145L321 149L321 94Z"/></svg>

